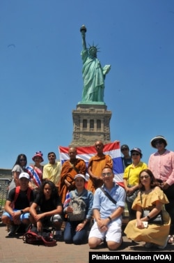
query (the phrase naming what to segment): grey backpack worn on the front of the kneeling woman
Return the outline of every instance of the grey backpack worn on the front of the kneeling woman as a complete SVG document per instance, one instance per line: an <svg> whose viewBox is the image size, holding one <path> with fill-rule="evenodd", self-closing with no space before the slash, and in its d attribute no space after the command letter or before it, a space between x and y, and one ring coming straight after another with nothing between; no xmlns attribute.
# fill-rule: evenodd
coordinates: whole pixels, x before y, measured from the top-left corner
<svg viewBox="0 0 174 263"><path fill-rule="evenodd" d="M69 206L72 207L73 212L68 213L68 218L70 221L81 221L85 219L86 216L86 204L81 196L75 195L74 191L72 193L72 198L70 200Z"/></svg>

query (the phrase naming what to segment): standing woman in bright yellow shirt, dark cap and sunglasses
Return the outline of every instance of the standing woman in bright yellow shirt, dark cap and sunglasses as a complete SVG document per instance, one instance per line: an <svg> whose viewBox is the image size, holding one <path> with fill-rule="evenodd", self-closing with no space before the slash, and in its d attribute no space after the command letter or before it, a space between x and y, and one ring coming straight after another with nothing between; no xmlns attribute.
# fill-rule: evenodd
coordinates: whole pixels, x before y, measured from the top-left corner
<svg viewBox="0 0 174 263"><path fill-rule="evenodd" d="M130 151L132 164L127 166L123 175L123 181L125 184L125 191L127 193L126 203L127 210L129 211L129 220L136 218L136 211L132 210L132 204L139 192L139 173L148 168L146 163L141 162L143 154L141 149L134 148Z"/></svg>

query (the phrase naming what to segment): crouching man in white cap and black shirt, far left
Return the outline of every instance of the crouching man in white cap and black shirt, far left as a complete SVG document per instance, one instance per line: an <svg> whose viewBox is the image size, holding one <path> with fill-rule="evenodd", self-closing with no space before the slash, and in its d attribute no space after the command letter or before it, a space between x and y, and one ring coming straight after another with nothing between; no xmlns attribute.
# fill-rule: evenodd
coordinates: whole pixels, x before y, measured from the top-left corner
<svg viewBox="0 0 174 263"><path fill-rule="evenodd" d="M19 174L19 186L8 193L1 218L4 224L10 225L8 236L15 236L22 224L27 227L30 223L29 209L34 195L33 190L29 188L29 179L30 176L26 172Z"/></svg>

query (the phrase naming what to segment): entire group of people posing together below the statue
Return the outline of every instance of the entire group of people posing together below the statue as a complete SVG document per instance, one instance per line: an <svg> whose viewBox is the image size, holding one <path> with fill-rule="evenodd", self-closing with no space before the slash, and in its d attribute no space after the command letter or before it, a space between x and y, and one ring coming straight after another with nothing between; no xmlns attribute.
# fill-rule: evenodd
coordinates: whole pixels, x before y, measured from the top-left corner
<svg viewBox="0 0 174 263"><path fill-rule="evenodd" d="M116 250L122 243L122 213L126 204L129 223L124 232L128 239L144 241L146 248L163 249L167 243L173 243L174 153L166 149L167 141L161 135L154 137L151 145L157 152L150 156L148 164L141 161L141 149L134 148L129 155L129 146L121 146L125 187L114 181L113 160L103 153L100 140L95 142L97 153L88 166L77 158L74 146L69 147L70 158L62 166L56 162L54 152L48 153L47 165L41 165L41 151L35 153L34 165L29 166L26 156L20 154L12 170L13 181L1 218L10 225L8 236L14 236L21 225L27 227L30 223L39 232L52 226L60 234L64 221L65 243L81 244L88 240L90 248L96 248L106 240L108 248ZM160 212L163 223L152 222Z"/></svg>

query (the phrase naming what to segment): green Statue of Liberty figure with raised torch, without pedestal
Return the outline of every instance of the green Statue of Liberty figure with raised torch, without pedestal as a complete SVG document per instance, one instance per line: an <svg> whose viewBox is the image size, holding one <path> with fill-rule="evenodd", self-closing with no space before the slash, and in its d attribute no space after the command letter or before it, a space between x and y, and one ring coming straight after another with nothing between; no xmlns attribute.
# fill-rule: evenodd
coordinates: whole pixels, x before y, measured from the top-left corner
<svg viewBox="0 0 174 263"><path fill-rule="evenodd" d="M83 25L80 31L83 46L81 58L83 61L82 73L84 79L81 102L104 102L104 80L111 69L111 65L106 65L102 68L100 60L97 59L97 46L90 46L89 49L86 47L86 27Z"/></svg>

